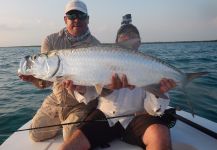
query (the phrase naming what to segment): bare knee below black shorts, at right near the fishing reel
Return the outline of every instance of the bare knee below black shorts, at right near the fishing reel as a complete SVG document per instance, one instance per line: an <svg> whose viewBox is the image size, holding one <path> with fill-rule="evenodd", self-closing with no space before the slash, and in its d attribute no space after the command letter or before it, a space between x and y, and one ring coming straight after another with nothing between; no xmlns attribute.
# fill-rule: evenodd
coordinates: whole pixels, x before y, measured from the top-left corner
<svg viewBox="0 0 217 150"><path fill-rule="evenodd" d="M162 124L152 124L142 137L146 150L171 150L170 131Z"/></svg>

